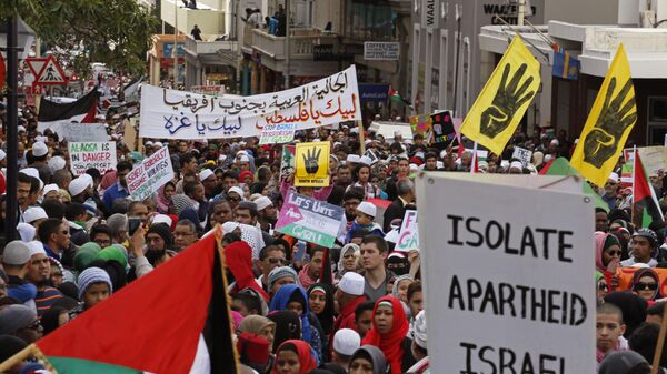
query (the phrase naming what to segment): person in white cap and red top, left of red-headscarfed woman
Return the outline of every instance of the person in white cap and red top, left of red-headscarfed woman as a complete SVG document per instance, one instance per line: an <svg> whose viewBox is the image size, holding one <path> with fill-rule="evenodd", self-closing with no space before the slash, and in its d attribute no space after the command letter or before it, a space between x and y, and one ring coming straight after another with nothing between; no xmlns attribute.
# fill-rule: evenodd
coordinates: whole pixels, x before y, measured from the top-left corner
<svg viewBox="0 0 667 374"><path fill-rule="evenodd" d="M340 282L338 282L338 290L336 290L336 294L334 295L338 302L340 312L334 324L334 331L339 331L340 328L357 331L355 311L359 304L366 301L366 296L364 295L365 287L366 281L364 276L354 272L347 272L342 275Z"/></svg>

